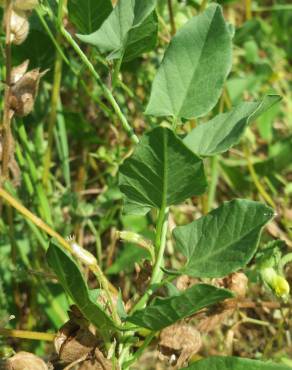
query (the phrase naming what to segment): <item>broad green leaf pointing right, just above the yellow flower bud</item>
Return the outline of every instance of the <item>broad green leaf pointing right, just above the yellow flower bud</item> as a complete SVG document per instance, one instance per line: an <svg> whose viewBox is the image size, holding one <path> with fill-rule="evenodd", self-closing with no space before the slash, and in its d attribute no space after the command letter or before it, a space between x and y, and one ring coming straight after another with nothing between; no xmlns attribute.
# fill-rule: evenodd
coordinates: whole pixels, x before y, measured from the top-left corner
<svg viewBox="0 0 292 370"><path fill-rule="evenodd" d="M262 203L236 199L176 227L176 248L187 258L180 273L223 277L243 268L255 254L262 228L273 214Z"/></svg>

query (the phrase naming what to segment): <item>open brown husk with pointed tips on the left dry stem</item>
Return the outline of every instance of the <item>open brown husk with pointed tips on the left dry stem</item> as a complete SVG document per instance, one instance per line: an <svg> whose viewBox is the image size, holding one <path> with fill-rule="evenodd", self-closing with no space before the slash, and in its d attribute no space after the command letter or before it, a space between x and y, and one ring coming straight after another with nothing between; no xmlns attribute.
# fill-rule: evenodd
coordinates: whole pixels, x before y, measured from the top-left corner
<svg viewBox="0 0 292 370"><path fill-rule="evenodd" d="M37 96L40 79L47 70L40 72L39 68L26 72L28 62L13 68L13 84L11 86L10 109L20 117L32 112Z"/></svg>

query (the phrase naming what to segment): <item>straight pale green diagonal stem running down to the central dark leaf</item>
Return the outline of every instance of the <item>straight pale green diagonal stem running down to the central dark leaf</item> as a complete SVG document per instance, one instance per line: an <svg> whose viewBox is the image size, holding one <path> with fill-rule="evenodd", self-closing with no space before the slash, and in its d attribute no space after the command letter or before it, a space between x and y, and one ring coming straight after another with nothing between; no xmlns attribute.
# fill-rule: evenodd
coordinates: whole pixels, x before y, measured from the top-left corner
<svg viewBox="0 0 292 370"><path fill-rule="evenodd" d="M130 139L135 144L138 144L139 139L138 139L137 135L134 133L134 130L132 129L132 127L130 126L130 124L128 123L127 118L125 117L125 115L121 111L121 108L118 105L117 101L115 100L113 94L111 93L111 91L109 90L109 88L101 81L101 78L100 78L99 74L96 72L96 70L94 69L94 66L88 60L87 56L83 53L83 51L80 49L80 47L78 46L78 44L74 41L74 39L72 38L72 36L70 35L70 33L64 28L63 25L60 25L60 27L61 27L61 33L62 33L62 35L65 37L65 39L67 40L67 42L73 47L73 49L79 55L79 57L82 60L82 62L86 65L86 67L88 68L88 70L90 71L90 73L92 74L92 76L97 81L98 85L101 87L101 89L102 89L102 91L104 93L105 98L111 104L111 106L112 106L113 110L115 111L116 115L119 117L124 130L126 131L126 133L128 134L128 136L130 137Z"/></svg>

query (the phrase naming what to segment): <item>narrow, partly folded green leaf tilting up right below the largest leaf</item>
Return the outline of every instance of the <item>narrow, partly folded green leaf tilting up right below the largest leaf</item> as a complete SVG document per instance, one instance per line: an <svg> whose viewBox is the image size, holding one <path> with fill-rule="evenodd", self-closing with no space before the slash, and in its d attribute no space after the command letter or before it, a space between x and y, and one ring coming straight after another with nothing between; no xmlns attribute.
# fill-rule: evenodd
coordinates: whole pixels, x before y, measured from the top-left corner
<svg viewBox="0 0 292 370"><path fill-rule="evenodd" d="M223 153L237 144L245 128L275 103L279 95L267 95L261 102L244 102L228 113L218 114L200 124L183 140L194 153L212 156Z"/></svg>

